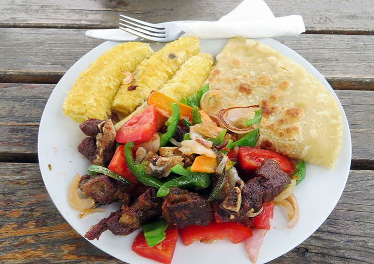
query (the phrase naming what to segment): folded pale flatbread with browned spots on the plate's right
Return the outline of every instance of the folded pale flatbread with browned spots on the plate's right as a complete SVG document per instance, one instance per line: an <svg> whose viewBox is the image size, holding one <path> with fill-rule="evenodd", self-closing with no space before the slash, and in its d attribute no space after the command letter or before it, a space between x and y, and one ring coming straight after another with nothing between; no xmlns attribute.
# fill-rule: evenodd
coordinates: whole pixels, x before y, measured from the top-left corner
<svg viewBox="0 0 374 264"><path fill-rule="evenodd" d="M343 141L342 112L333 95L292 59L255 40L232 38L206 82L206 112L261 104L262 148L334 167Z"/></svg>

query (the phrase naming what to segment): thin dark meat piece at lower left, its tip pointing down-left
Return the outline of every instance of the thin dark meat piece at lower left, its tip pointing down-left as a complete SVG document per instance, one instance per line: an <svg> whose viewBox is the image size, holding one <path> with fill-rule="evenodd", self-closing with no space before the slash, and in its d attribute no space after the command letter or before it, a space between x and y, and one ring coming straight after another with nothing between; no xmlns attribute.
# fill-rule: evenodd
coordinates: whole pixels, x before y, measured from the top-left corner
<svg viewBox="0 0 374 264"><path fill-rule="evenodd" d="M110 230L116 236L126 236L133 233L136 229L120 225L118 221L120 217L121 210L111 213L110 216L100 220L99 223L92 226L84 237L88 240L99 240L101 234L106 230Z"/></svg>

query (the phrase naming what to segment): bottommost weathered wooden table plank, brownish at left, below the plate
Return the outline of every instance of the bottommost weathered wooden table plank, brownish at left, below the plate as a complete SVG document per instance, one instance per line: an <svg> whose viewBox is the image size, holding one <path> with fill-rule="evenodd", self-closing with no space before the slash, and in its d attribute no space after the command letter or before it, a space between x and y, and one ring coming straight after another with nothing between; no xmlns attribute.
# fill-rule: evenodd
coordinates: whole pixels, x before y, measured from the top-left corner
<svg viewBox="0 0 374 264"><path fill-rule="evenodd" d="M47 194L38 164L0 163L0 177L1 263L121 263L66 223ZM270 263L373 263L373 187L373 171L351 171L326 222L300 246Z"/></svg>

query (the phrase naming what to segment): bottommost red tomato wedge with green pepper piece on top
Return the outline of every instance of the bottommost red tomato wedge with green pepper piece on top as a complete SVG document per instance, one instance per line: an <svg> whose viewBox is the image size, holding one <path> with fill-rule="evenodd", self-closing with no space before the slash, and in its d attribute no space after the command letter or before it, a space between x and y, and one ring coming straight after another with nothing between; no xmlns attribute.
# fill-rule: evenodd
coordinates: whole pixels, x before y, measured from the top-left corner
<svg viewBox="0 0 374 264"><path fill-rule="evenodd" d="M163 242L156 246L149 247L143 232L141 232L135 238L131 249L144 258L170 264L178 241L178 229L167 229L165 233L166 239Z"/></svg>

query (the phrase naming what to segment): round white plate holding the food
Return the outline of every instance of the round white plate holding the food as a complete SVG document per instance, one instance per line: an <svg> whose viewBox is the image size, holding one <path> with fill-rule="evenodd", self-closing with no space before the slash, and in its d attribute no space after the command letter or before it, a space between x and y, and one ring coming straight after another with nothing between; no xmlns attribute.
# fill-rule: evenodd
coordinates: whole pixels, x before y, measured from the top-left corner
<svg viewBox="0 0 374 264"><path fill-rule="evenodd" d="M283 44L273 39L257 39L266 43L285 56L288 56L311 72L336 98L333 89L323 76L304 58ZM227 40L202 40L201 52L217 55ZM109 216L119 205L106 206L104 213L95 213L83 219L79 212L70 208L67 202L67 190L75 173L85 174L89 162L77 151L77 146L84 138L78 124L62 114L62 103L79 73L86 69L100 54L115 46L118 42L107 41L94 48L77 61L61 78L53 90L40 122L38 137L38 156L41 174L57 209L66 221L84 237L90 226ZM163 45L151 44L154 50ZM300 220L292 229L286 227L288 219L281 207L276 207L271 230L267 232L257 264L269 262L292 250L310 235L330 215L346 185L351 164L351 135L344 110L344 138L335 169L326 169L307 164L305 180L297 186L294 194L300 204ZM89 241L102 251L129 264L156 264L156 262L139 257L131 250L131 245L138 232L121 237L110 231L102 234L99 241ZM243 244L232 244L229 241L218 241L213 245L195 242L186 247L179 240L174 254L173 264L227 264L249 263Z"/></svg>

